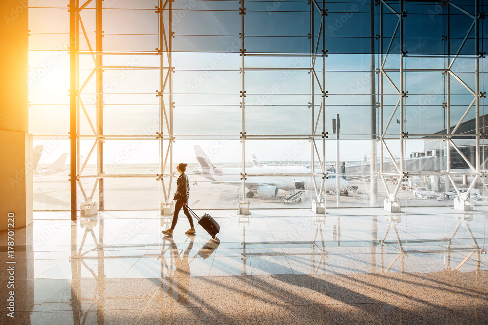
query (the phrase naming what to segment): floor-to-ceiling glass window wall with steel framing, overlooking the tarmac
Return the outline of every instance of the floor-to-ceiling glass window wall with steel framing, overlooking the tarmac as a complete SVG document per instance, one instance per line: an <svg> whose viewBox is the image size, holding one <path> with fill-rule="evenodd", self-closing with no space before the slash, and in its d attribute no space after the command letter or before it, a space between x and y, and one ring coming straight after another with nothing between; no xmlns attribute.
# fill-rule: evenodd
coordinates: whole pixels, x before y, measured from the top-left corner
<svg viewBox="0 0 488 325"><path fill-rule="evenodd" d="M169 207L179 162L199 209L488 196L484 1L94 0L74 21L45 2L29 15L35 210L69 210L73 180L78 209Z"/></svg>

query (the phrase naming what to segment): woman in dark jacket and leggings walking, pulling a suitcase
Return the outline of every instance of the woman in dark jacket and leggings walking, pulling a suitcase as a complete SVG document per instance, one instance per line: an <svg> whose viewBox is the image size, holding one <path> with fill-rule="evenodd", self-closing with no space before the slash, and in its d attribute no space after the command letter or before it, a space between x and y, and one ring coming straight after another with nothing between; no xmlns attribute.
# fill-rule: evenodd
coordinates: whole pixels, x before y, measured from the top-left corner
<svg viewBox="0 0 488 325"><path fill-rule="evenodd" d="M173 235L173 230L175 229L176 223L178 222L178 213L180 213L183 207L183 212L190 222L191 228L185 232L187 235L192 235L195 233L195 228L193 227L193 219L191 217L190 211L188 211L188 199L190 198L190 184L188 182L188 177L184 173L186 171L186 166L188 164L179 163L176 166L176 170L180 173L180 177L176 180L176 194L174 199L176 200L175 212L173 213L173 222L171 223L171 228L163 230L163 234L166 236Z"/></svg>

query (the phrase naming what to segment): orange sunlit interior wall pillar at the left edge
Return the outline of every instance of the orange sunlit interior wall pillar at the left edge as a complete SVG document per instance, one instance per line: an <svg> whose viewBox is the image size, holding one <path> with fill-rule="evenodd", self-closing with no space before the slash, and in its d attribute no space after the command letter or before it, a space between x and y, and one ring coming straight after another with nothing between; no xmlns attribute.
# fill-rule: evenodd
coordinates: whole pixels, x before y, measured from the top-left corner
<svg viewBox="0 0 488 325"><path fill-rule="evenodd" d="M32 135L28 124L28 1L0 2L0 231L33 218Z"/></svg>

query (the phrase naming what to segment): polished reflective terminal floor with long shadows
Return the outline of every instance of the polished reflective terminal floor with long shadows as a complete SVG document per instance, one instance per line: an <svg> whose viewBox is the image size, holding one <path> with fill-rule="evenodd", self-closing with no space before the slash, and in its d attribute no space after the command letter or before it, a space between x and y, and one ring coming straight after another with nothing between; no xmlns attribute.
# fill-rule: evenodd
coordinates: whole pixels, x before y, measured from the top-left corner
<svg viewBox="0 0 488 325"><path fill-rule="evenodd" d="M488 324L481 208L210 213L218 240L183 213L164 237L157 211L37 212L14 253L0 233L0 324Z"/></svg>

